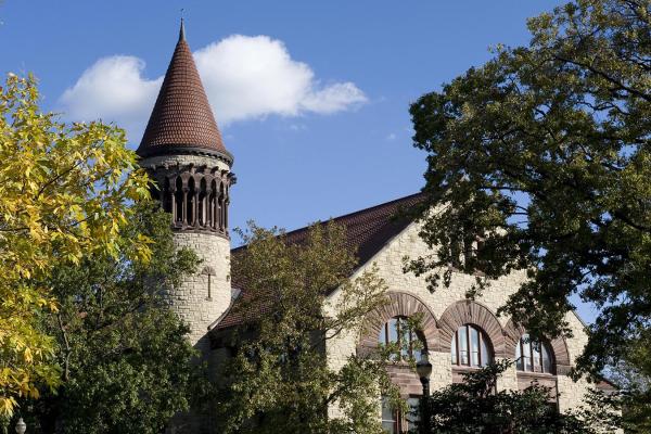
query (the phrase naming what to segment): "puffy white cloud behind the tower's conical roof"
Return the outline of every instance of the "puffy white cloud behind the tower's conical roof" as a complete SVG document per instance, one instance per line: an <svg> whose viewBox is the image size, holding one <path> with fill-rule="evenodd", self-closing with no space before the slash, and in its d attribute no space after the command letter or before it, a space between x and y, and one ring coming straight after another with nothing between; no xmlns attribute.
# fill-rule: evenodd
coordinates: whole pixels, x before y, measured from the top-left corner
<svg viewBox="0 0 651 434"><path fill-rule="evenodd" d="M267 36L230 36L194 53L220 125L268 115L330 114L367 101L353 82L321 85L312 69L292 60L284 43ZM143 77L144 61L100 59L60 99L71 119L102 118L130 132L144 128L163 77Z"/></svg>

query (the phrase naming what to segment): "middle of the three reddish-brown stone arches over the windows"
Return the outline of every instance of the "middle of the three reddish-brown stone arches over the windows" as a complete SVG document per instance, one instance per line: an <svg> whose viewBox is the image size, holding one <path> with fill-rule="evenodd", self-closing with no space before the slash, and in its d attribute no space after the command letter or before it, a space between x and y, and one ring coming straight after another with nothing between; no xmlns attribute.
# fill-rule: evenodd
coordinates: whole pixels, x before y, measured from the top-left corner
<svg viewBox="0 0 651 434"><path fill-rule="evenodd" d="M506 337L495 314L486 306L470 299L461 299L448 306L438 320L439 346L436 350L449 353L455 332L463 324L482 329L493 345L495 357L506 357Z"/></svg>

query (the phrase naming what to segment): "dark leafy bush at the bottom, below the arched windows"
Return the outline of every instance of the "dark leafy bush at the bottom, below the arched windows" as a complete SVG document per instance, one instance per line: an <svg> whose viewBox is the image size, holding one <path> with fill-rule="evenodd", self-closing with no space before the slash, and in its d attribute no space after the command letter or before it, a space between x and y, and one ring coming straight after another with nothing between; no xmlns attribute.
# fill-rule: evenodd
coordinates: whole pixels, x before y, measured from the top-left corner
<svg viewBox="0 0 651 434"><path fill-rule="evenodd" d="M538 384L524 391L496 392L499 375L512 363L507 360L489 365L467 373L462 383L435 391L426 400L429 432L597 434L617 427L615 403L597 393L591 395L589 406L560 413L549 400L550 390Z"/></svg>

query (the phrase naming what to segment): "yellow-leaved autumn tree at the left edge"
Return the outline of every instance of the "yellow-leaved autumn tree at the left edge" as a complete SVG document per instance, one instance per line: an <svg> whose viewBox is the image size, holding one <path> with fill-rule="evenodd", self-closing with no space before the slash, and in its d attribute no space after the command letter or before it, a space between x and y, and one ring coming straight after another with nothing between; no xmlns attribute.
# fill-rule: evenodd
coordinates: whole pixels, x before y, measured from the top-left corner
<svg viewBox="0 0 651 434"><path fill-rule="evenodd" d="M117 255L130 201L149 196L148 177L124 131L58 122L42 113L33 77L0 87L0 420L16 399L55 387L55 342L41 317L58 306L46 281L63 264ZM129 240L146 259L145 237Z"/></svg>

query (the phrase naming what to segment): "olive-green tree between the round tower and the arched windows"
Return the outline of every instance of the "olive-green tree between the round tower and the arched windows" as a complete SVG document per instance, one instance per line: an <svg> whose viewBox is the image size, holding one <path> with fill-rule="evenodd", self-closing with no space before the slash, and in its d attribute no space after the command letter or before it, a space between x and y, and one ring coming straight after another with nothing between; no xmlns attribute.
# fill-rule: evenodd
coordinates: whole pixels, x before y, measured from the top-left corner
<svg viewBox="0 0 651 434"><path fill-rule="evenodd" d="M350 278L344 230L316 225L301 244L255 225L243 234L232 269L246 282L234 307L245 322L217 399L220 432L380 434L380 396L403 405L379 355L350 355L341 369L328 362L328 343L358 333L386 303L374 270ZM328 417L332 406L341 416Z"/></svg>

